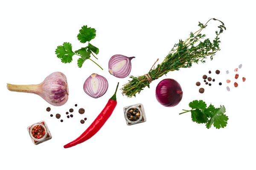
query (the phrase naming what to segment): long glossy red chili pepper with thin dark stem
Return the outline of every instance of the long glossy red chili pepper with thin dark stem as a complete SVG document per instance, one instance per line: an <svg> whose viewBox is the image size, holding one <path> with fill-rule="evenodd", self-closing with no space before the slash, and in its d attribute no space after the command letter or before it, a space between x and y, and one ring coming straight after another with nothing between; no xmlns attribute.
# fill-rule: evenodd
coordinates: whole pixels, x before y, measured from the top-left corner
<svg viewBox="0 0 256 170"><path fill-rule="evenodd" d="M116 91L118 85L119 82L117 83ZM114 109L116 108L116 91L115 94L108 100L108 103L105 106L105 108L101 111L101 113L99 113L99 115L92 122L92 124L84 131L84 133L82 133L77 139L64 145L64 148L73 147L77 144L87 141L88 139L93 137L100 130L100 128L102 128L102 126L105 124L105 122L108 120L108 118L111 116Z"/></svg>

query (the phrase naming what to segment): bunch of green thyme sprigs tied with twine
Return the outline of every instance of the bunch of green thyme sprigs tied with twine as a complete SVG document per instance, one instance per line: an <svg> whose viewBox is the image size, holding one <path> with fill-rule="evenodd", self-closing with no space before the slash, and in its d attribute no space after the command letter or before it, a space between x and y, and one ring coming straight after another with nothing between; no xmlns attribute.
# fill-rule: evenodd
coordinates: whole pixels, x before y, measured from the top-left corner
<svg viewBox="0 0 256 170"><path fill-rule="evenodd" d="M212 18L210 20L217 20ZM207 23L210 21L208 20ZM158 79L159 77L166 75L169 71L179 70L180 68L190 68L192 63L205 62L205 59L210 56L210 59L213 59L213 56L217 51L220 50L219 35L223 32L223 29L226 30L224 23L220 20L221 25L218 26L219 31L215 31L216 37L211 42L209 39L200 41L205 37L205 34L201 34L201 31L206 28L206 24L199 22L198 26L200 29L195 33L190 33L190 37L185 41L179 40L179 43L175 44L169 54L165 57L162 63L158 64L156 68L151 68L148 72L148 75L151 77L151 80ZM136 94L140 94L140 91L143 90L146 86L149 88L150 82L148 81L148 76L143 75L139 77L130 76L132 80L121 88L122 94L132 97Z"/></svg>

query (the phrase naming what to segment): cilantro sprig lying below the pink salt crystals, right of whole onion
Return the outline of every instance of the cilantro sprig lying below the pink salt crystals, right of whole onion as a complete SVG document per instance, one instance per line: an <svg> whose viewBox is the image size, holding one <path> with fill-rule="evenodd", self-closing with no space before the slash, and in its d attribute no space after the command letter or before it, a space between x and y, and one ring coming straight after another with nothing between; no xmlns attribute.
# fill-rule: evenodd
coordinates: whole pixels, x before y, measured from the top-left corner
<svg viewBox="0 0 256 170"><path fill-rule="evenodd" d="M216 129L224 128L227 126L228 116L224 113L226 112L226 108L220 106L220 108L215 108L212 104L208 107L203 100L194 100L189 103L189 107L191 110L184 110L187 113L191 112L191 118L193 122L196 123L205 123L206 127L209 129L212 125L216 127Z"/></svg>

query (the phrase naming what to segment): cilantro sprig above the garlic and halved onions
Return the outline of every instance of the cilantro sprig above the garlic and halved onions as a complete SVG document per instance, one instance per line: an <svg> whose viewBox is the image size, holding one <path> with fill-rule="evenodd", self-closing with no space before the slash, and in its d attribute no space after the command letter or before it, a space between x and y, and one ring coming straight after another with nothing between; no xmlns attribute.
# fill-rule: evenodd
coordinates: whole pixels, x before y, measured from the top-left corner
<svg viewBox="0 0 256 170"><path fill-rule="evenodd" d="M72 44L70 42L64 42L62 45L59 45L56 48L55 54L57 54L57 57L60 58L61 62L63 63L72 62L74 55L79 56L80 58L77 60L77 65L79 68L81 68L85 60L90 59L91 54L93 55L93 57L95 57L94 54L96 55L99 54L99 48L90 44L90 40L93 40L95 37L96 37L96 30L94 28L82 26L82 28L79 30L79 34L77 35L77 38L81 43L88 42L88 45L86 47L82 47L79 50L76 50L75 52L73 52ZM97 57L95 58L98 59ZM92 59L90 60L94 62ZM94 63L98 65L96 62ZM99 68L103 70L101 66L99 66Z"/></svg>

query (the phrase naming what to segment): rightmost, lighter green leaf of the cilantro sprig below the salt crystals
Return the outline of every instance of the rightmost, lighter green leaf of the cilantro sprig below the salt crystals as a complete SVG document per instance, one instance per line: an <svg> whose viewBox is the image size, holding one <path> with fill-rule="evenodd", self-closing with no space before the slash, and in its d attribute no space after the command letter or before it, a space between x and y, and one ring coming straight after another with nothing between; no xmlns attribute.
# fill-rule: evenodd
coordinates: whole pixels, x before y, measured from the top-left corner
<svg viewBox="0 0 256 170"><path fill-rule="evenodd" d="M227 126L228 116L224 113L226 112L226 108L224 106L220 106L220 108L216 108L214 111L214 115L211 117L209 122L207 122L206 127L209 129L212 124L217 129L223 128Z"/></svg>

